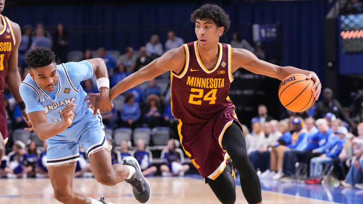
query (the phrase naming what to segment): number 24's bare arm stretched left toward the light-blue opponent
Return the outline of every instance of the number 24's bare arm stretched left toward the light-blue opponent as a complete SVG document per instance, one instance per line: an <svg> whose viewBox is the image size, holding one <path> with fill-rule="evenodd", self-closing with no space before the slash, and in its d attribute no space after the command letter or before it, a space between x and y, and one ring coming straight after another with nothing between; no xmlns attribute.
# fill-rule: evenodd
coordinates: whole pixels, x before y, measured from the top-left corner
<svg viewBox="0 0 363 204"><path fill-rule="evenodd" d="M149 81L167 71L179 73L183 69L185 62L186 51L184 46L171 49L159 58L150 62L148 65L142 67L139 71L118 82L109 91L109 97L113 100L116 96L124 93L125 91L145 81ZM101 112L106 112L102 106L97 105L98 98L99 94L88 94L86 98L86 101L89 101L88 106L92 105L95 107L94 114L97 112L97 108L99 108Z"/></svg>

